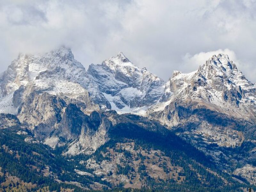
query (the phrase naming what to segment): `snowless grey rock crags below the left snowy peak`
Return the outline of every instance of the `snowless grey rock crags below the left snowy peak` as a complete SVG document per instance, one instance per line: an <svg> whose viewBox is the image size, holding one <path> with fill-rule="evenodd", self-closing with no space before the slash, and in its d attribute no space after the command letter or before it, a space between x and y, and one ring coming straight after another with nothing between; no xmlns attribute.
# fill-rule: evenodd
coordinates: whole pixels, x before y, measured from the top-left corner
<svg viewBox="0 0 256 192"><path fill-rule="evenodd" d="M70 149L69 153L74 155L85 149L96 150L107 140L103 137L108 121L102 120L97 112L87 116L76 104L67 104L46 92L32 92L26 97L18 117L29 125L37 139L53 148L79 140L79 148Z"/></svg>

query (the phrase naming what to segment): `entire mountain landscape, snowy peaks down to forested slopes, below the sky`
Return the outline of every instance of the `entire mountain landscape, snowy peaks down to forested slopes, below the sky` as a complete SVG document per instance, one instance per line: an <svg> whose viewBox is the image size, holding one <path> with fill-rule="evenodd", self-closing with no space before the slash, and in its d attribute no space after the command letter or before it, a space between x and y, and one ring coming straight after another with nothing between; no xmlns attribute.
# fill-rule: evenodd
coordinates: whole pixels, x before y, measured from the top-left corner
<svg viewBox="0 0 256 192"><path fill-rule="evenodd" d="M0 75L0 191L256 190L256 85L228 55L165 82L64 46Z"/></svg>

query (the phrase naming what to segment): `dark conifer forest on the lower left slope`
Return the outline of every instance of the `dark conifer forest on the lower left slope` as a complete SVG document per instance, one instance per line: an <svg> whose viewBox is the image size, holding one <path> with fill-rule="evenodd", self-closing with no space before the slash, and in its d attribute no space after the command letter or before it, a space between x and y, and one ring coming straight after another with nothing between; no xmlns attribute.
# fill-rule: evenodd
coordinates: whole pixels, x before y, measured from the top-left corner
<svg viewBox="0 0 256 192"><path fill-rule="evenodd" d="M88 159L88 156L78 155L65 158L60 155L60 148L57 148L55 151L42 144L26 143L24 141L24 136L17 135L7 129L0 130L0 146L3 145L8 147L8 151L11 150L14 153L10 154L8 151L6 152L4 148L0 148L0 167L2 167L2 171L4 170L13 176L17 176L24 182L36 183L38 185L37 188L40 186L50 186L52 190L56 190L60 187L77 187L64 183L56 183L53 178L44 177L41 172L31 169L32 165L38 167L40 170L43 170L45 165L49 166L50 171L54 172L59 177L59 180L62 181L76 180L84 186L93 183L93 181L107 184L106 181L101 181L98 177L94 177L93 181L88 176L81 175L80 177L77 177L77 174L74 172L74 167L86 172L91 172L91 170L86 170L84 166L79 164L81 158L86 160ZM19 158L16 157L16 152L18 152L18 155L20 156ZM4 176L0 177L0 180L3 182Z"/></svg>

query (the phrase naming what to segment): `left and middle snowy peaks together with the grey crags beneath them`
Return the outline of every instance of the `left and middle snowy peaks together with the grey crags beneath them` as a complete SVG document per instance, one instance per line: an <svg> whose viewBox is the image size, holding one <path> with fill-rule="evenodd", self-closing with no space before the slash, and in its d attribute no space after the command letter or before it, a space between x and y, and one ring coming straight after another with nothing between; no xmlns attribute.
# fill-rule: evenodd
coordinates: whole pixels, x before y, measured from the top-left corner
<svg viewBox="0 0 256 192"><path fill-rule="evenodd" d="M20 54L1 75L0 85L1 113L16 115L36 139L53 148L74 141L72 154L90 145L93 152L107 140L108 120L92 131L86 115L109 109L145 113L164 90L162 79L136 67L122 52L86 71L66 47Z"/></svg>

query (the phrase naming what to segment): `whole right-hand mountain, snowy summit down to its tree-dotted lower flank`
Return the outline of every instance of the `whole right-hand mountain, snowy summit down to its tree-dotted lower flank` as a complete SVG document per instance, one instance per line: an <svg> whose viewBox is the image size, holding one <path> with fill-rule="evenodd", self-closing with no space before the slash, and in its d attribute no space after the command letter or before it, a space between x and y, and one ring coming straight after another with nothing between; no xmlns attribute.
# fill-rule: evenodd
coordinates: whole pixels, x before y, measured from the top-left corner
<svg viewBox="0 0 256 192"><path fill-rule="evenodd" d="M166 84L171 97L148 110L151 118L212 156L220 169L237 175L254 168L256 85L227 55L214 55L189 74L175 71Z"/></svg>

